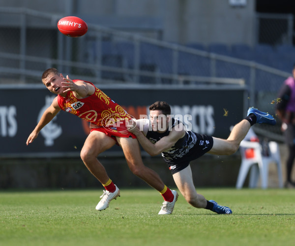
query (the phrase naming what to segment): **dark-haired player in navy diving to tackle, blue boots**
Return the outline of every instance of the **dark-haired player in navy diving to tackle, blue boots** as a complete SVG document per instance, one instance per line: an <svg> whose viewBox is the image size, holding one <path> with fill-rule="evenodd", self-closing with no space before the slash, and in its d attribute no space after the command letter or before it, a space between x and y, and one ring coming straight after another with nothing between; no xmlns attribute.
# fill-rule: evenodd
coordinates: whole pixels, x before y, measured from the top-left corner
<svg viewBox="0 0 295 246"><path fill-rule="evenodd" d="M231 155L236 152L241 140L255 123L275 125L268 113L250 108L245 119L233 128L227 139L201 135L187 131L179 120L170 117L171 109L166 102L157 101L149 106L150 120L140 119L128 130L133 133L151 156L162 153L164 161L173 174L177 188L186 201L196 208L209 209L218 214L232 214L229 207L198 194L193 184L189 163L205 153Z"/></svg>

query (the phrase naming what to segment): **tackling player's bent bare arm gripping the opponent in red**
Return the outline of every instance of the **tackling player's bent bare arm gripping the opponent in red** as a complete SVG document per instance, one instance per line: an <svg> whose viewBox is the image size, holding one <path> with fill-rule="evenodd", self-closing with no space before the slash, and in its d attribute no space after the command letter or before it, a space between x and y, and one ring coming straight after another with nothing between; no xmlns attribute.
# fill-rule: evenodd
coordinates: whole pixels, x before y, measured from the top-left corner
<svg viewBox="0 0 295 246"><path fill-rule="evenodd" d="M162 137L159 141L153 144L138 127L130 127L128 130L137 137L144 150L151 156L156 156L163 151L170 149L178 139L185 135L184 130L176 131L175 128L173 128L168 136Z"/></svg>

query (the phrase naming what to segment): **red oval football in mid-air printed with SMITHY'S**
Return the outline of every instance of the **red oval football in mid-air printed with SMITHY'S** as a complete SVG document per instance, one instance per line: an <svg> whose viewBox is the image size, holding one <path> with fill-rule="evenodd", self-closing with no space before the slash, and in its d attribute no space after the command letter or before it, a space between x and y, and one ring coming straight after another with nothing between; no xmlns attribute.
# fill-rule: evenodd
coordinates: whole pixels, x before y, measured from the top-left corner
<svg viewBox="0 0 295 246"><path fill-rule="evenodd" d="M75 16L61 18L58 28L62 34L72 38L81 37L88 30L86 22Z"/></svg>

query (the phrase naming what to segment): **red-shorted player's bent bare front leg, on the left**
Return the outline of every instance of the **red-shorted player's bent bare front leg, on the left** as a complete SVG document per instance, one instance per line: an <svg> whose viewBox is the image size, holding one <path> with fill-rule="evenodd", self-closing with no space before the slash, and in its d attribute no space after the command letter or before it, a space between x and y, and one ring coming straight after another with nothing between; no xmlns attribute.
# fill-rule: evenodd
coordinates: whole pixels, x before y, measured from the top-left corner
<svg viewBox="0 0 295 246"><path fill-rule="evenodd" d="M116 144L116 141L104 133L93 131L86 138L81 150L81 159L89 171L102 184L109 180L104 166L97 160L97 156Z"/></svg>

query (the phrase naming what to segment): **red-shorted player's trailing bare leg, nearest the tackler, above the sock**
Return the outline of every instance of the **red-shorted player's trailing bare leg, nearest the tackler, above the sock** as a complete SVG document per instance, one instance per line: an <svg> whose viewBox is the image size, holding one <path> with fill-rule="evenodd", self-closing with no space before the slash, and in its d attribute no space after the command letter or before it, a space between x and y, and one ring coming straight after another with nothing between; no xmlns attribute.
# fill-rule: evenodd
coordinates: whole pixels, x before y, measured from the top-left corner
<svg viewBox="0 0 295 246"><path fill-rule="evenodd" d="M136 138L117 137L118 143L123 149L127 164L133 174L144 180L157 191L164 189L164 183L159 175L144 165L140 153L140 147Z"/></svg>

